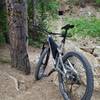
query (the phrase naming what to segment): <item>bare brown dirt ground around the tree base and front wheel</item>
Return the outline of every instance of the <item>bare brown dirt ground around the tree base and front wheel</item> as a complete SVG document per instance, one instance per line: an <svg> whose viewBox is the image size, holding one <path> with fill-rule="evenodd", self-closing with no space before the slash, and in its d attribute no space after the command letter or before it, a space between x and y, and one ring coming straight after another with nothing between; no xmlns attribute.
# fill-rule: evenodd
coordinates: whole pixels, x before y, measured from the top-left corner
<svg viewBox="0 0 100 100"><path fill-rule="evenodd" d="M63 100L59 88L53 82L53 75L35 81L34 71L40 49L29 47L31 74L11 68L8 46L0 46L0 100ZM100 94L94 92L92 100L100 100Z"/></svg>

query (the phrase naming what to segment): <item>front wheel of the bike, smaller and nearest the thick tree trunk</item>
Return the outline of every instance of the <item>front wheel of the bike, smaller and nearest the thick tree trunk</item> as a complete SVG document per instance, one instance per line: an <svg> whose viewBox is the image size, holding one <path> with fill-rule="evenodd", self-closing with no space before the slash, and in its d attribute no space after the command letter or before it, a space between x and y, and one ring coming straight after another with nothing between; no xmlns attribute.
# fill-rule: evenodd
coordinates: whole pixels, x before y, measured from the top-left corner
<svg viewBox="0 0 100 100"><path fill-rule="evenodd" d="M40 80L41 78L43 78L46 66L48 64L49 55L50 55L50 49L45 48L40 55L39 61L35 69L36 80Z"/></svg>

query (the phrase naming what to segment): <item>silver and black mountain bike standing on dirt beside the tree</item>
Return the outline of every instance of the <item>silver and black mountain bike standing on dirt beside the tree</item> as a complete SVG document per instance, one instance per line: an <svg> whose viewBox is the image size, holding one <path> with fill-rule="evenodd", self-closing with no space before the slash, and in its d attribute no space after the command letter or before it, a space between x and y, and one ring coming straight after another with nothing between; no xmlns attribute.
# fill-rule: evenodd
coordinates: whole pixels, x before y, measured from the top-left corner
<svg viewBox="0 0 100 100"><path fill-rule="evenodd" d="M65 40L68 36L68 30L71 28L74 28L74 25L67 24L62 27L63 34L45 30L48 33L48 38L40 53L35 69L35 79L40 80L48 77L56 71L58 72L59 89L64 100L90 100L94 87L90 63L82 53L77 51L64 53ZM60 45L53 40L52 35L62 37ZM50 72L46 73L50 53L54 66Z"/></svg>

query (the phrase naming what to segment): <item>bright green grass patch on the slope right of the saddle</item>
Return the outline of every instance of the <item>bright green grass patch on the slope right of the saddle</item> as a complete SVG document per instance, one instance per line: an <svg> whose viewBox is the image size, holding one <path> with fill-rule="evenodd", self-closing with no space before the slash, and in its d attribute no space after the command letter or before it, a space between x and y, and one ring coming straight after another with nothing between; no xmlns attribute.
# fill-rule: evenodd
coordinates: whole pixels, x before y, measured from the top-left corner
<svg viewBox="0 0 100 100"><path fill-rule="evenodd" d="M74 24L75 28L70 30L74 37L100 37L100 19L94 17L79 18L79 19L66 19L67 23Z"/></svg>

